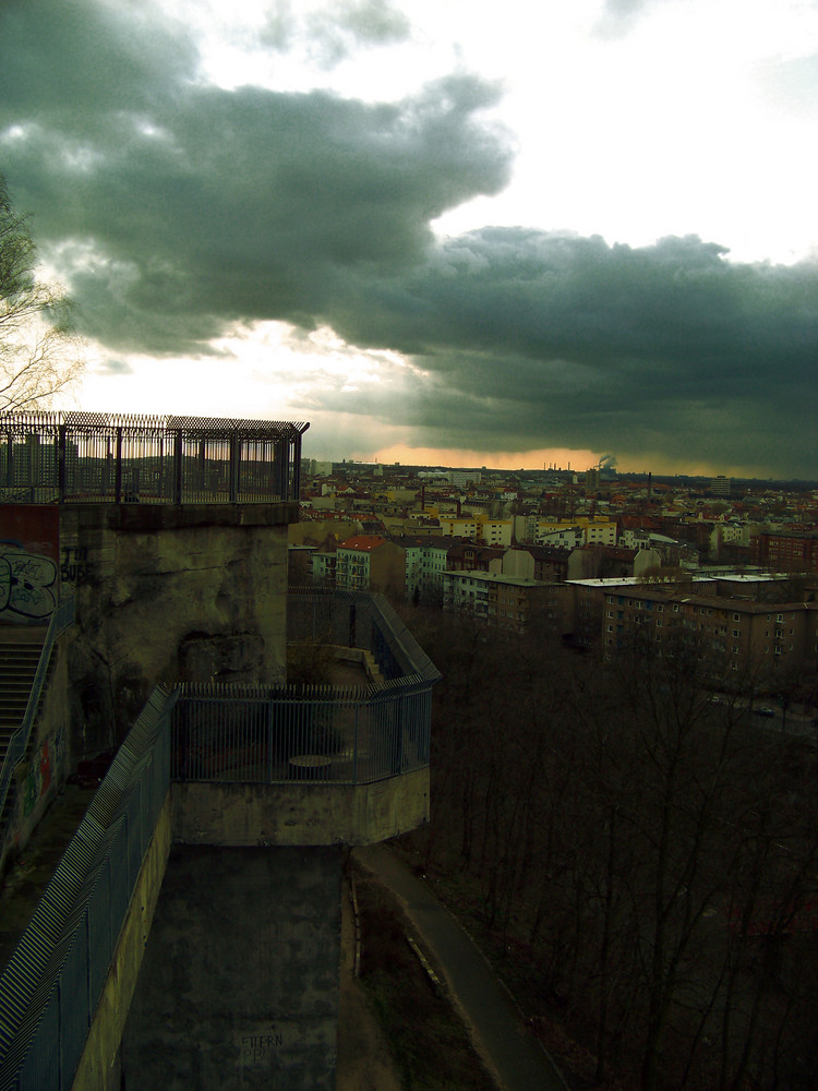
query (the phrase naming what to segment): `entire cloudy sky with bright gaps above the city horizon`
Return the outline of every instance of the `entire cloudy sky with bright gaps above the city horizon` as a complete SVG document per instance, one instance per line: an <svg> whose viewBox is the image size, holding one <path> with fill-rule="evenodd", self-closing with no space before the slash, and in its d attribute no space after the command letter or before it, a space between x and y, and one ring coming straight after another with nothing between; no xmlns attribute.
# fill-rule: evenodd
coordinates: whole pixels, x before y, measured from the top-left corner
<svg viewBox="0 0 818 1091"><path fill-rule="evenodd" d="M818 478L816 0L2 0L83 409Z"/></svg>

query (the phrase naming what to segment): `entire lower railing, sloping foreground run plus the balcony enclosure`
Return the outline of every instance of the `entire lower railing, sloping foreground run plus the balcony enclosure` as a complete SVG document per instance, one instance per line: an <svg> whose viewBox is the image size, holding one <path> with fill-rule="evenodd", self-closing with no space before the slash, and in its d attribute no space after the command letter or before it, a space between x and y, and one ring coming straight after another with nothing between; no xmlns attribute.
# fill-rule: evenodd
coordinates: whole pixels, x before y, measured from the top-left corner
<svg viewBox="0 0 818 1091"><path fill-rule="evenodd" d="M0 1091L71 1087L172 779L369 783L428 766L441 675L386 600L305 591L293 602L291 632L365 648L390 676L154 691L0 978Z"/></svg>

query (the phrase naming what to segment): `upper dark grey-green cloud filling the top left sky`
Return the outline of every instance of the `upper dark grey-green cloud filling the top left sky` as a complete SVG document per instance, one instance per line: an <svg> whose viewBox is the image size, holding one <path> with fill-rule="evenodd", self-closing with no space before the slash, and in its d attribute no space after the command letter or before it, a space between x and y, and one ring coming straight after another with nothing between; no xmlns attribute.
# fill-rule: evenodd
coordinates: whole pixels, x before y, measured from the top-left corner
<svg viewBox="0 0 818 1091"><path fill-rule="evenodd" d="M86 332L119 348L190 350L239 317L309 324L348 269L419 260L432 218L506 180L505 142L473 118L496 91L476 79L376 106L226 92L192 82L169 32L128 37L93 4L61 2L52 23L50 7L0 16L2 167L44 253L70 265L74 240Z"/></svg>

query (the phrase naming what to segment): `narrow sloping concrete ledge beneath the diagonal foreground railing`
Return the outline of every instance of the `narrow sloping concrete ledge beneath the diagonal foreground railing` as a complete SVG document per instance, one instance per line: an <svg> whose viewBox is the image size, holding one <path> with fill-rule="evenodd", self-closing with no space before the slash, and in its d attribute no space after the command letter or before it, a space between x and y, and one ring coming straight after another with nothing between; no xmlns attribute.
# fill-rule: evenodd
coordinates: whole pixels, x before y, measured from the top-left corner
<svg viewBox="0 0 818 1091"><path fill-rule="evenodd" d="M154 830L88 1031L72 1091L119 1091L119 1044L170 851L170 799ZM157 1084L157 1087L160 1084Z"/></svg>

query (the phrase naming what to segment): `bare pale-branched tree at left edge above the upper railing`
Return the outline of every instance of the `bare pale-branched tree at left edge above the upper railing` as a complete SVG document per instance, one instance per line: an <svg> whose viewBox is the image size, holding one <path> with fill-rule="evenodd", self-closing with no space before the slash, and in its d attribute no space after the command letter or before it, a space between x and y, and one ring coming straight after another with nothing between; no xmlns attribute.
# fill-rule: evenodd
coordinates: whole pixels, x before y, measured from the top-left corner
<svg viewBox="0 0 818 1091"><path fill-rule="evenodd" d="M38 276L28 217L0 175L0 413L48 406L83 370L69 299Z"/></svg>

